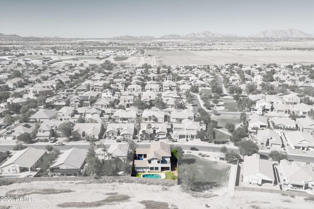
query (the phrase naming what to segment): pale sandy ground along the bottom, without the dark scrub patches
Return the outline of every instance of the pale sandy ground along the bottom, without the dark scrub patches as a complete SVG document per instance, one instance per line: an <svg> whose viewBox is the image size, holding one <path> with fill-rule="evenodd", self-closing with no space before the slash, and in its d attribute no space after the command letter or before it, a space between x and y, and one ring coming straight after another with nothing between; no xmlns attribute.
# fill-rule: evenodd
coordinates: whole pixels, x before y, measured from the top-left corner
<svg viewBox="0 0 314 209"><path fill-rule="evenodd" d="M0 187L0 195L12 189L21 188L55 188L71 189L73 192L61 194L32 194L28 197L34 197L35 202L1 202L0 206L11 206L13 209L54 209L59 208L56 205L65 202L92 202L103 200L108 192L117 192L126 194L131 198L126 202L110 203L97 208L110 209L144 209L145 206L139 203L142 200L154 200L166 202L169 208L174 209L201 209L208 204L212 209L250 209L258 206L260 209L310 209L313 208L313 202L307 202L303 198L282 196L277 194L259 193L259 192L239 192L229 193L226 189L213 190L212 193L218 194L211 198L193 197L191 194L183 192L180 186L156 186L127 183L111 184L80 184L69 182L32 182L14 184Z"/></svg>

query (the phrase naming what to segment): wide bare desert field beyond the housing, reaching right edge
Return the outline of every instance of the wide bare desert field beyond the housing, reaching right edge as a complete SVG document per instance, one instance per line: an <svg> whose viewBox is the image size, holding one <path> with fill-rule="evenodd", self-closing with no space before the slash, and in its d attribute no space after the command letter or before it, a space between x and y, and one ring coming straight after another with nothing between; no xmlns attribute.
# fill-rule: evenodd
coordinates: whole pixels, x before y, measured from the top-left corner
<svg viewBox="0 0 314 209"><path fill-rule="evenodd" d="M157 65L314 64L314 52L301 50L147 51L146 54L155 56Z"/></svg>

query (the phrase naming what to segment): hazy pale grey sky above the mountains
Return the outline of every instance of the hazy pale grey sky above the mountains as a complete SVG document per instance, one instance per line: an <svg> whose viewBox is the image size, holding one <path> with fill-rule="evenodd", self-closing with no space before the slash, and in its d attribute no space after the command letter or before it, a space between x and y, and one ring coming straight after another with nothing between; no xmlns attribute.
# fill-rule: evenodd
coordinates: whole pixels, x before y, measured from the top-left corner
<svg viewBox="0 0 314 209"><path fill-rule="evenodd" d="M295 28L314 34L314 0L0 0L0 33L64 38L249 35Z"/></svg>

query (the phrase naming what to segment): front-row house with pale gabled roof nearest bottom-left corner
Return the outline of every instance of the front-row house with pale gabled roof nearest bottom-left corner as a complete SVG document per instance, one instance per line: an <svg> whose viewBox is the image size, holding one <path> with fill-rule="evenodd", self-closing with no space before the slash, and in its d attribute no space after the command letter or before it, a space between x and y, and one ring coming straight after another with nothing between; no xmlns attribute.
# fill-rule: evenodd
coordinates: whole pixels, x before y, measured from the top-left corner
<svg viewBox="0 0 314 209"><path fill-rule="evenodd" d="M27 147L17 151L11 158L0 165L1 174L14 174L35 171L46 150Z"/></svg>

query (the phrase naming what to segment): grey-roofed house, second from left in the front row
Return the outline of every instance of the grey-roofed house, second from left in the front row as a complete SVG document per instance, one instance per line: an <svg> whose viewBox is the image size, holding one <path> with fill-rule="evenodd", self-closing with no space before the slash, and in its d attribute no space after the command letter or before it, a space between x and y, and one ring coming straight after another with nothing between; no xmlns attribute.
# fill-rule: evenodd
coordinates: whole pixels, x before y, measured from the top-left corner
<svg viewBox="0 0 314 209"><path fill-rule="evenodd" d="M49 170L52 173L73 175L81 174L85 165L87 150L73 147L65 150L58 158L50 165Z"/></svg>

